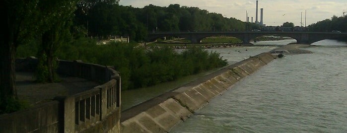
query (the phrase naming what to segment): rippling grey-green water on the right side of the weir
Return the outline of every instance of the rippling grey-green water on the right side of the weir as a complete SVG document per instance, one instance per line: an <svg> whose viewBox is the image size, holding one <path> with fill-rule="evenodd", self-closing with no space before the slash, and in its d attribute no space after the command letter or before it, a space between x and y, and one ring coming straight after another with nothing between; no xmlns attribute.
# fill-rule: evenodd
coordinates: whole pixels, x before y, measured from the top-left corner
<svg viewBox="0 0 347 133"><path fill-rule="evenodd" d="M285 56L244 78L172 133L347 133L347 44Z"/></svg>

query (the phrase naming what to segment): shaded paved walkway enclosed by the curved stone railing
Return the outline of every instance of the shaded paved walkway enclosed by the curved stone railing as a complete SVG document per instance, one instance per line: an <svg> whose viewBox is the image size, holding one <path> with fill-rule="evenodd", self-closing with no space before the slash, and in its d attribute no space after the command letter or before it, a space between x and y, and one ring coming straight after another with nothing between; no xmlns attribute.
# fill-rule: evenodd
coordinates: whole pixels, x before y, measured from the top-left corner
<svg viewBox="0 0 347 133"><path fill-rule="evenodd" d="M31 105L48 102L56 96L73 95L91 89L100 83L78 77L60 76L58 83L35 82L34 73L16 72L18 98Z"/></svg>

